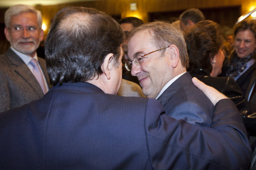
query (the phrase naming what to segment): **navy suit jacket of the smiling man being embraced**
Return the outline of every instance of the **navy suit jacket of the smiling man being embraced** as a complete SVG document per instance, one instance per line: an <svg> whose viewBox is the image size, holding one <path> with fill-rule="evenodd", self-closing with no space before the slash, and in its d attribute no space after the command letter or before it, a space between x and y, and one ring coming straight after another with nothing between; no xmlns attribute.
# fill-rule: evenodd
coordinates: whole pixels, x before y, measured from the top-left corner
<svg viewBox="0 0 256 170"><path fill-rule="evenodd" d="M157 100L167 115L199 126L211 127L214 106L192 83L189 72L175 80Z"/></svg>

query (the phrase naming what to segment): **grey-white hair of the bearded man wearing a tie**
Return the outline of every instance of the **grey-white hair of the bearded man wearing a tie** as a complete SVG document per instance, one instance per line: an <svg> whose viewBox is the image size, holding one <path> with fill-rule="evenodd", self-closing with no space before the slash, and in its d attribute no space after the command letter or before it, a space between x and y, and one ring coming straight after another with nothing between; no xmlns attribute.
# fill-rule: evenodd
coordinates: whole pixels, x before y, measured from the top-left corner
<svg viewBox="0 0 256 170"><path fill-rule="evenodd" d="M36 10L35 7L29 5L13 5L8 8L7 11L4 13L4 24L6 27L10 27L10 19L13 15L18 15L20 13L29 12L36 14L37 23L39 28L42 28L42 14L40 11Z"/></svg>

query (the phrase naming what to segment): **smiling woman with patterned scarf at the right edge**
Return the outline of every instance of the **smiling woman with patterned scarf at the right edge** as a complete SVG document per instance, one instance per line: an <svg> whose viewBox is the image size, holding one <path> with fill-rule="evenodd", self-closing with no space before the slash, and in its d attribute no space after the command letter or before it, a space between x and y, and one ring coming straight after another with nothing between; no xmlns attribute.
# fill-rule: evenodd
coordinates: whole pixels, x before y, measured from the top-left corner
<svg viewBox="0 0 256 170"><path fill-rule="evenodd" d="M235 50L223 66L221 76L229 76L236 80L245 94L252 73L256 69L256 20L247 19L239 22L233 28Z"/></svg>

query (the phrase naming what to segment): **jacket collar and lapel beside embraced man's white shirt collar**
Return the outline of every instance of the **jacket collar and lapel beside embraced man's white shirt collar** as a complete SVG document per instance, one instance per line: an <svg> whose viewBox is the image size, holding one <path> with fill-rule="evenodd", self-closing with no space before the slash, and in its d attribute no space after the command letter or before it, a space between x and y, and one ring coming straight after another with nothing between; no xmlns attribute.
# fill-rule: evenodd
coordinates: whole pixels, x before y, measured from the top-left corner
<svg viewBox="0 0 256 170"><path fill-rule="evenodd" d="M191 79L191 76L188 72L180 76L177 80L175 80L162 94L158 97L158 101L164 105L172 98L172 96L180 90L188 81L184 79Z"/></svg>

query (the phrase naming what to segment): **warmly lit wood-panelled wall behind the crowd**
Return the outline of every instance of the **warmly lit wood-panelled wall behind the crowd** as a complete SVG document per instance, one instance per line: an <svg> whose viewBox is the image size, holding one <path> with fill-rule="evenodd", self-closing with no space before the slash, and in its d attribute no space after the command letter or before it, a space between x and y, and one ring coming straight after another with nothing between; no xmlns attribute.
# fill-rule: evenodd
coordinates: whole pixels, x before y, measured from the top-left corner
<svg viewBox="0 0 256 170"><path fill-rule="evenodd" d="M137 11L130 11L130 3L137 3ZM104 11L112 16L129 17L137 16L144 22L148 22L149 13L155 12L176 12L177 14L185 11L188 8L199 9L213 9L213 8L225 8L225 7L237 7L241 6L242 15L248 12L251 6L255 5L255 0L100 0L100 1L86 1L78 3L67 3L58 5L37 5L36 8L42 11L43 21L49 27L54 15L62 8L66 6L84 6L93 7ZM0 9L0 23L4 23L5 9ZM232 14L218 14L219 17L224 17L225 20L229 20ZM46 34L47 34L46 30Z"/></svg>

